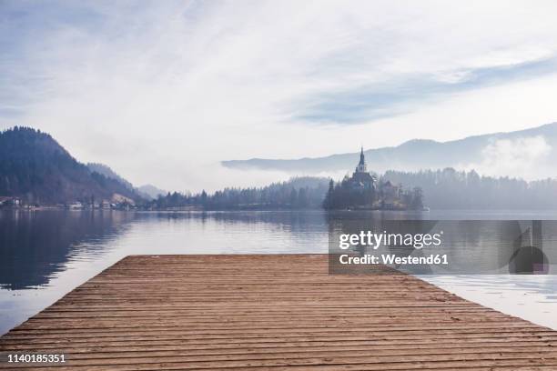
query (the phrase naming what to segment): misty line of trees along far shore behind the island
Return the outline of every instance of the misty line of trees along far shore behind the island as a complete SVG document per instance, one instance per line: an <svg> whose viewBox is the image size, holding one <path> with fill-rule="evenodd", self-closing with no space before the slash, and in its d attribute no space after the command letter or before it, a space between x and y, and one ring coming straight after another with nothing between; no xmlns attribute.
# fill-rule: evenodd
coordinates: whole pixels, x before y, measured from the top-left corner
<svg viewBox="0 0 557 371"><path fill-rule="evenodd" d="M226 188L214 194L173 193L148 204L152 208L199 206L217 209L321 208L329 178L297 177L287 182L254 188ZM388 171L379 181L414 191L420 187L424 206L432 209L555 209L557 179L525 181L510 177L481 176L452 168L419 172Z"/></svg>

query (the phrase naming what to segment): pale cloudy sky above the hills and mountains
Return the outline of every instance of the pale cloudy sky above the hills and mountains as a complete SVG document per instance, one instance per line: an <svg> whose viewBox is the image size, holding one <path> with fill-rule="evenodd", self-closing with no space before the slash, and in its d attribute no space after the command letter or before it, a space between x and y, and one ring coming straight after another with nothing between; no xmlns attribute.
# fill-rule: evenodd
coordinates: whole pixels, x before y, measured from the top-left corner
<svg viewBox="0 0 557 371"><path fill-rule="evenodd" d="M557 121L555 1L114 3L0 0L0 128L136 185Z"/></svg>

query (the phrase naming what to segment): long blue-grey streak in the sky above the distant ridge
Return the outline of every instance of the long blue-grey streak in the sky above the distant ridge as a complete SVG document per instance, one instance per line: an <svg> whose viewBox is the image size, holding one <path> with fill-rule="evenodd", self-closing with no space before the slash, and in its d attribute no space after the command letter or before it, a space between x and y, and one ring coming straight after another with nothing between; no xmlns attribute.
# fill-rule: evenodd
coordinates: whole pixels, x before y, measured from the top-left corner
<svg viewBox="0 0 557 371"><path fill-rule="evenodd" d="M557 56L552 56L518 65L454 70L438 75L399 75L377 84L350 86L346 91L309 95L299 118L317 123L361 124L405 114L454 93L551 75L556 70Z"/></svg>

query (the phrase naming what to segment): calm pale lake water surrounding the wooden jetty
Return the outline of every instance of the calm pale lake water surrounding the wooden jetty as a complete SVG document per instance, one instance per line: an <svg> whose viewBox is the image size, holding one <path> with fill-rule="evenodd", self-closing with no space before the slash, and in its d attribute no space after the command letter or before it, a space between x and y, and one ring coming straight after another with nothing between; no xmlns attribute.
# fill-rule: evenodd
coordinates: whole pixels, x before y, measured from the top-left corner
<svg viewBox="0 0 557 371"><path fill-rule="evenodd" d="M354 214L0 210L0 334L137 254L327 253ZM557 212L362 213L361 218L557 220ZM481 236L480 236L481 240ZM420 276L459 296L557 329L557 276Z"/></svg>

